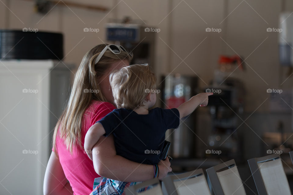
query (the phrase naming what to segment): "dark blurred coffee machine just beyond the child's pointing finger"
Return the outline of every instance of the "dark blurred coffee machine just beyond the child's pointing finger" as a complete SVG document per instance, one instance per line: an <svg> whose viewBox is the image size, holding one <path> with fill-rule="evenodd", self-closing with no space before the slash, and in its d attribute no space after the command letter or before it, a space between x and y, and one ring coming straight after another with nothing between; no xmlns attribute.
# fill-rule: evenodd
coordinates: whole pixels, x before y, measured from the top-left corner
<svg viewBox="0 0 293 195"><path fill-rule="evenodd" d="M243 114L244 84L236 78L228 77L221 85L206 87L205 92L214 94L209 96L212 129L207 137L208 152L204 151L204 156L240 159L243 144L238 131L242 120L238 116Z"/></svg>

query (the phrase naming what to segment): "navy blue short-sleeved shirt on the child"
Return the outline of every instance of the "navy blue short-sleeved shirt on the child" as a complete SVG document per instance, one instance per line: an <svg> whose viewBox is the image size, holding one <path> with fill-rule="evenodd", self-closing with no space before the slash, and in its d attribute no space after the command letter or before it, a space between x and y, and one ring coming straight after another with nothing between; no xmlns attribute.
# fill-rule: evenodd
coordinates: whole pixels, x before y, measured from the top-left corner
<svg viewBox="0 0 293 195"><path fill-rule="evenodd" d="M161 156L165 132L179 126L177 108L154 108L149 114L137 114L133 110L114 109L99 120L105 136L113 133L116 154L128 160L143 164L158 164Z"/></svg>

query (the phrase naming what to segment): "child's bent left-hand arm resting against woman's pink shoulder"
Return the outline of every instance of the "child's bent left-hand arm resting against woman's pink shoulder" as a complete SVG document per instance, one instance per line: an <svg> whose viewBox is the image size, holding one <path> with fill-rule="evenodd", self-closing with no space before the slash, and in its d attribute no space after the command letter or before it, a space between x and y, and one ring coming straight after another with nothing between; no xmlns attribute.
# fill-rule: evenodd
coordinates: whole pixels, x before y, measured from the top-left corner
<svg viewBox="0 0 293 195"><path fill-rule="evenodd" d="M99 122L92 125L85 134L85 152L92 160L92 148L98 142L100 137L106 133L103 125Z"/></svg>

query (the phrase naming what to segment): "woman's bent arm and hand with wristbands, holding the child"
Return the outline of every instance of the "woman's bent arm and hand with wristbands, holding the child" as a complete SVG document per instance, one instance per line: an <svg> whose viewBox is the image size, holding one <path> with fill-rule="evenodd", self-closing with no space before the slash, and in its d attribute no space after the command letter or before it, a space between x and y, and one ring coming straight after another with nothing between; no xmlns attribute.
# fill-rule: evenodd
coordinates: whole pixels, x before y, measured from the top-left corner
<svg viewBox="0 0 293 195"><path fill-rule="evenodd" d="M154 166L140 164L116 155L113 135L102 136L92 149L95 171L103 177L124 182L139 182L154 178ZM159 179L172 171L169 159L159 164Z"/></svg>

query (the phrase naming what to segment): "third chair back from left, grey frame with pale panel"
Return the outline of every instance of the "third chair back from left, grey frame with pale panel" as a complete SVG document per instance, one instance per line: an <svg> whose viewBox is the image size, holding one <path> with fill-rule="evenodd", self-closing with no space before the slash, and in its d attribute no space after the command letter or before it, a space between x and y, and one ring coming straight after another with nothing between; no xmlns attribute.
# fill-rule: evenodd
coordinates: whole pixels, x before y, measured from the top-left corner
<svg viewBox="0 0 293 195"><path fill-rule="evenodd" d="M246 195L234 159L206 171L215 195Z"/></svg>

